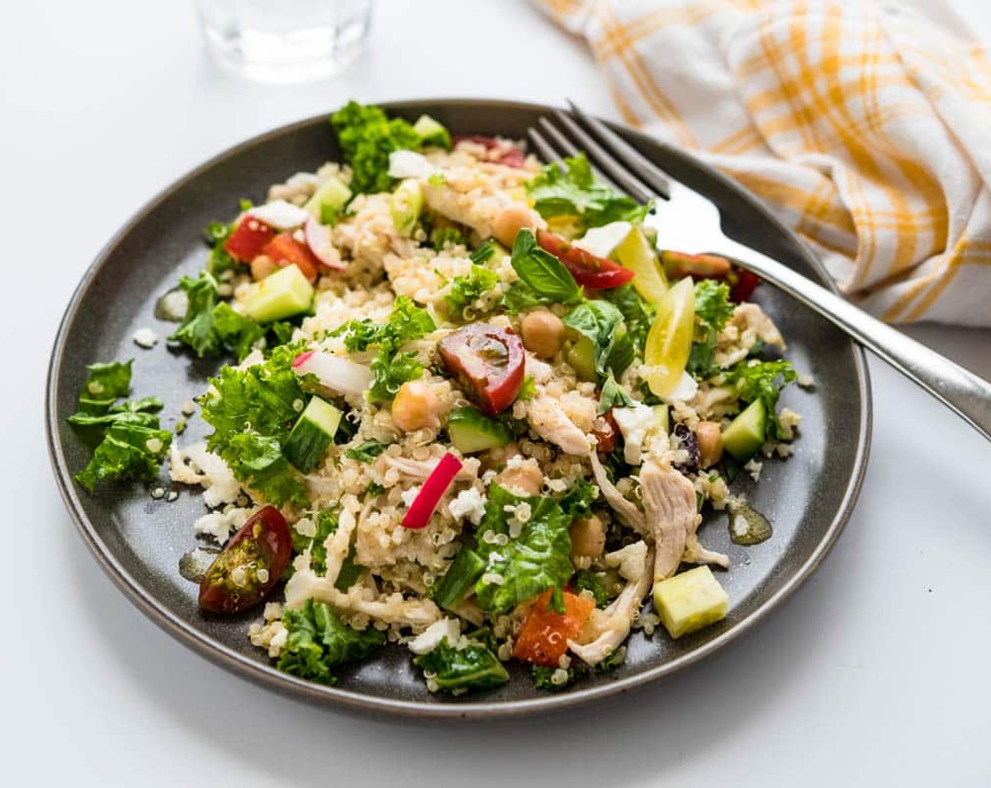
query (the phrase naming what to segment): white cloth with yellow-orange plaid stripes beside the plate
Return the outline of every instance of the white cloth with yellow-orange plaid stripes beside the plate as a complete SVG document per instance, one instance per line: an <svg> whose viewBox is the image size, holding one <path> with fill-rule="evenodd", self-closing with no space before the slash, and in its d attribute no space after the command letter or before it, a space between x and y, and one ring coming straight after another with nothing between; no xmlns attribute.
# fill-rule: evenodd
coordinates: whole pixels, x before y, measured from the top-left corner
<svg viewBox="0 0 991 788"><path fill-rule="evenodd" d="M991 325L991 66L940 6L537 0L623 118L732 175L894 322Z"/></svg>

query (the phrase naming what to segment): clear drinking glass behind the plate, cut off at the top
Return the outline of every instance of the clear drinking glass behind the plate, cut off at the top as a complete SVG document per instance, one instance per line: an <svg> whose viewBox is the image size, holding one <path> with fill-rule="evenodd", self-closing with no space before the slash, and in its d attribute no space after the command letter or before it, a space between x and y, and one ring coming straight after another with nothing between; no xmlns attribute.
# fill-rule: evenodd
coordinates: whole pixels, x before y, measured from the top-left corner
<svg viewBox="0 0 991 788"><path fill-rule="evenodd" d="M196 0L206 48L263 82L339 73L361 52L372 0Z"/></svg>

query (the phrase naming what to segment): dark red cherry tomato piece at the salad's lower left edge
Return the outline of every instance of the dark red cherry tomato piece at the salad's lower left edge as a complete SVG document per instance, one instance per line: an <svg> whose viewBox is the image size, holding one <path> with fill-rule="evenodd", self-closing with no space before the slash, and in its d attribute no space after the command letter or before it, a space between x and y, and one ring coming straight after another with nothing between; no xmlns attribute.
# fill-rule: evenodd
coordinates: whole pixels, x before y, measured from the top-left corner
<svg viewBox="0 0 991 788"><path fill-rule="evenodd" d="M292 535L275 507L264 507L231 537L199 584L199 607L241 613L272 591L289 563Z"/></svg>

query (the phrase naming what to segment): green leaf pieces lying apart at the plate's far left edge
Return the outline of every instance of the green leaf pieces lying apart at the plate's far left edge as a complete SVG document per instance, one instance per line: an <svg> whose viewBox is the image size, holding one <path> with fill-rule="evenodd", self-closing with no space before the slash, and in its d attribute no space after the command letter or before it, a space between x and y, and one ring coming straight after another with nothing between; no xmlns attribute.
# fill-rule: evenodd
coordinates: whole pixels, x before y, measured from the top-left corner
<svg viewBox="0 0 991 788"><path fill-rule="evenodd" d="M75 475L89 492L102 482L155 479L171 443L171 432L161 428L156 415L163 406L159 397L115 404L131 391L132 363L90 365L79 393L79 411L68 417L98 441L86 467Z"/></svg>

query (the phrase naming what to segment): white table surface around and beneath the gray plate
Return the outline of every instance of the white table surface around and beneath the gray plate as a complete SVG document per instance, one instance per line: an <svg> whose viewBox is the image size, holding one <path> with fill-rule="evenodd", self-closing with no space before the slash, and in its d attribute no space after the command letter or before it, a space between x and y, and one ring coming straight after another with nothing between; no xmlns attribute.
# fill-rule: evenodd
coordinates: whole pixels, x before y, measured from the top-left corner
<svg viewBox="0 0 991 788"><path fill-rule="evenodd" d="M970 14L991 38L991 12ZM674 680L566 716L393 724L279 697L172 640L76 535L45 448L55 326L103 243L179 173L352 96L571 95L615 113L582 44L522 2L382 0L343 77L282 88L218 73L181 2L17 3L4 21L5 784L989 784L991 446L873 361L873 449L842 538L782 610ZM991 377L991 333L913 333Z"/></svg>

